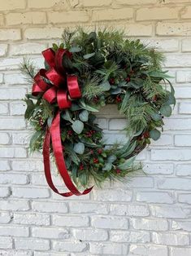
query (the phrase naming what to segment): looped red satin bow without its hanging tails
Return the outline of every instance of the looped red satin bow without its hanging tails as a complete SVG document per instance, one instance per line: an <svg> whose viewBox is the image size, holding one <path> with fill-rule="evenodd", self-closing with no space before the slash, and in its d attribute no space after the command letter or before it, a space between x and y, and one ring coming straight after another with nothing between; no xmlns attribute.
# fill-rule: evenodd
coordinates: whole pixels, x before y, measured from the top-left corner
<svg viewBox="0 0 191 256"><path fill-rule="evenodd" d="M71 58L71 53L64 49L59 49L56 53L52 49L42 51L46 63L49 64L50 69L41 68L34 77L33 95L43 93L43 98L50 104L57 101L59 108L70 108L72 106L71 99L78 99L81 97L80 88L77 82L77 77L69 75L63 68L63 55ZM50 83L46 81L49 80Z"/></svg>

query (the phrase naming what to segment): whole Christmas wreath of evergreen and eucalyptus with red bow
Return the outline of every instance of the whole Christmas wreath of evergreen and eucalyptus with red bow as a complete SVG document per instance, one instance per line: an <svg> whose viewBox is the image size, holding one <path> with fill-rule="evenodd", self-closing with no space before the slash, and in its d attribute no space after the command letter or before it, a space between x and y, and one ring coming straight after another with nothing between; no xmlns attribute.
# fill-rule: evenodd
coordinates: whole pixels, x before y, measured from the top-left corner
<svg viewBox="0 0 191 256"><path fill-rule="evenodd" d="M66 29L62 43L42 55L45 68L37 74L29 60L21 69L33 80L25 98L25 118L35 130L30 148L43 150L50 188L62 196L83 195L91 191L92 180L122 180L139 170L135 157L150 139L159 139L163 116L170 117L171 104L176 104L161 67L163 54L119 31ZM104 142L95 113L106 104L117 105L127 119L124 144L108 147ZM55 188L50 155L69 192Z"/></svg>

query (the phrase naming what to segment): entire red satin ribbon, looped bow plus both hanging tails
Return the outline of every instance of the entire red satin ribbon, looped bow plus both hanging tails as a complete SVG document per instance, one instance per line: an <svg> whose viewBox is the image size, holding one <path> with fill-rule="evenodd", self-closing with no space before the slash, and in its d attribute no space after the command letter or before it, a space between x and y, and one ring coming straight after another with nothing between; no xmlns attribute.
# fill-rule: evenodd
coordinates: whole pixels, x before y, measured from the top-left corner
<svg viewBox="0 0 191 256"><path fill-rule="evenodd" d="M34 77L35 83L33 84L33 95L43 94L43 98L50 104L57 101L60 109L70 108L72 106L71 99L78 99L81 97L80 88L77 82L77 77L68 75L63 68L63 55L67 55L68 58L72 57L72 54L64 49L59 49L54 53L52 49L46 49L42 51L42 55L45 57L46 63L49 64L50 69L41 69ZM49 82L47 82L47 80ZM68 95L71 99L68 98ZM52 147L56 165L59 173L63 178L69 192L60 193L55 188L50 172L50 139L52 141ZM60 136L60 113L54 117L50 128L46 130L46 137L43 143L43 158L46 174L46 181L50 188L61 196L81 196L89 193L92 188L85 189L84 192L79 192L72 179L67 172L67 167L63 157L63 147Z"/></svg>

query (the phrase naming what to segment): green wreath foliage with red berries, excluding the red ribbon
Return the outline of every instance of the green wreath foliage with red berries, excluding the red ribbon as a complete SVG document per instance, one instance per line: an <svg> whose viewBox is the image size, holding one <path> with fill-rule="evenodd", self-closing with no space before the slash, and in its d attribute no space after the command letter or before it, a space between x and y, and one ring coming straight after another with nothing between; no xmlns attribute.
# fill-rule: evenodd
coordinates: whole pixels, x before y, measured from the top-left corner
<svg viewBox="0 0 191 256"><path fill-rule="evenodd" d="M78 77L82 97L72 99L72 108L60 110L43 94L26 95L25 118L35 130L31 150L42 148L46 129L60 111L64 159L78 187L87 187L92 180L100 185L106 179L123 181L137 174L141 170L134 164L137 154L150 139L159 139L163 116L170 117L171 105L176 104L170 77L162 69L163 53L140 40L124 39L124 33L115 29L65 29L63 42L52 48L72 53L71 59L64 55L63 68ZM21 71L33 82L32 62L24 60ZM127 119L128 141L123 146L115 143L108 148L103 141L93 113L105 104L117 104Z"/></svg>

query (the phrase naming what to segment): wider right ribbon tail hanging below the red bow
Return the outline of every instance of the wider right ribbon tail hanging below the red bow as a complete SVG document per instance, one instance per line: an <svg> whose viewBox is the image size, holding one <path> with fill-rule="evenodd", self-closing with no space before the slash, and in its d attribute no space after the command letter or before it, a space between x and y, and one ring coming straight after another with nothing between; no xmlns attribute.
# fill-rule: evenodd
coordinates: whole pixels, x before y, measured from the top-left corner
<svg viewBox="0 0 191 256"><path fill-rule="evenodd" d="M60 137L60 114L59 113L57 113L56 117L54 117L54 120L50 128L50 134L52 139L52 146L53 146L55 161L56 161L59 173L61 174L67 188L70 190L70 192L72 192L72 194L76 196L82 196L82 195L88 194L93 187L85 189L84 192L79 192L76 186L74 185L74 183L72 182L70 175L67 172L67 167L63 158L63 148L62 148L61 137Z"/></svg>

